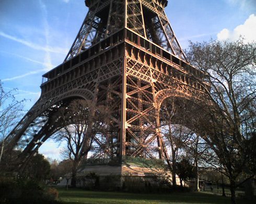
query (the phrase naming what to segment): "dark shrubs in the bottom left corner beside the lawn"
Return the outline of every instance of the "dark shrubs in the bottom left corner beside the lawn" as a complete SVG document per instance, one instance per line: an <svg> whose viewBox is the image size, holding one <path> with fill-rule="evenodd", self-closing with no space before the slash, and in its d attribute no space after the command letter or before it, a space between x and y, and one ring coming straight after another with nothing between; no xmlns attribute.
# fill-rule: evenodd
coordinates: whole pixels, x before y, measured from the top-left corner
<svg viewBox="0 0 256 204"><path fill-rule="evenodd" d="M3 204L50 204L59 203L54 200L56 190L46 189L35 180L0 177L0 203Z"/></svg>

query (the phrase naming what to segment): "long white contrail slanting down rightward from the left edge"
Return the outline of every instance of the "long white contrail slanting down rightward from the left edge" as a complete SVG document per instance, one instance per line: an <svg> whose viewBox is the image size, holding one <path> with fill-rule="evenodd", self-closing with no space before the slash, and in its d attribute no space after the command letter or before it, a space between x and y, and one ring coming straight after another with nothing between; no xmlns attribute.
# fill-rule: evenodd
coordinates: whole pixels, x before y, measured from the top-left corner
<svg viewBox="0 0 256 204"><path fill-rule="evenodd" d="M37 44L34 44L32 42L29 41L25 41L23 39L19 39L16 36L12 36L12 35L8 35L2 31L0 31L0 36L5 37L9 40L13 40L16 41L18 43L21 43L23 45L26 45L32 49L37 49L37 50L43 50L45 52L51 52L51 53L59 53L59 54L66 54L68 52L68 50L66 48L60 48L60 47L43 47Z"/></svg>

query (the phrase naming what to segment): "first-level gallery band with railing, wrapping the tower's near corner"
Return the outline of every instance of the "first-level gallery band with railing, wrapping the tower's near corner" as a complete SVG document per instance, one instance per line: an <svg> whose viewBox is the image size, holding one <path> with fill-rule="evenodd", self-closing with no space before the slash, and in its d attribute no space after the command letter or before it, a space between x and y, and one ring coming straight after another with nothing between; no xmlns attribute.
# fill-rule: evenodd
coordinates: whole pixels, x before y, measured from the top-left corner
<svg viewBox="0 0 256 204"><path fill-rule="evenodd" d="M169 53L167 50L161 48L155 43L147 40L145 37L139 36L135 32L126 28L113 33L107 39L104 39L97 44L92 45L79 55L73 57L68 61L63 62L60 66L43 74L41 86L43 86L45 83L50 82L53 79L56 79L60 75L67 73L69 70L77 67L80 63L86 60L90 60L90 58L99 55L100 53L104 52L104 50L107 50L112 46L124 42L124 39L126 40L126 42L129 41L131 42L131 44L138 46L140 49L145 49L145 52L149 52L150 54L154 54L156 57L164 59L168 62L172 62L173 66L177 69L180 69L181 72L187 72L193 74L198 78L203 78L204 74L200 70L195 69L187 62Z"/></svg>

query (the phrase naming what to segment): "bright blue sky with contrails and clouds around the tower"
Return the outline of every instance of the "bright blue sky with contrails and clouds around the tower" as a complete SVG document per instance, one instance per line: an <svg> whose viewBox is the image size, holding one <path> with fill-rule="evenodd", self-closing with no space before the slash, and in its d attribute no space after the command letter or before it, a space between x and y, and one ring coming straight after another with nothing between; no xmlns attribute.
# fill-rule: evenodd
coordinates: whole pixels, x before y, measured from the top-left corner
<svg viewBox="0 0 256 204"><path fill-rule="evenodd" d="M0 0L0 80L17 99L40 96L41 75L63 62L82 24L84 0ZM166 14L182 48L188 41L256 41L255 0L170 0ZM59 158L53 142L41 152Z"/></svg>

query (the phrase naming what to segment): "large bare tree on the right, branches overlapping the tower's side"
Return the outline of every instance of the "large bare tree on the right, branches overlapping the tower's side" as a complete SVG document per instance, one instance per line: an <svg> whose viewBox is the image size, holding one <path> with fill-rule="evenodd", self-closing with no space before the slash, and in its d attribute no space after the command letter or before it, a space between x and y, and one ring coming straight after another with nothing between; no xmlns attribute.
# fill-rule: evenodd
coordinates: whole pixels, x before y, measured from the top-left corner
<svg viewBox="0 0 256 204"><path fill-rule="evenodd" d="M223 165L230 181L231 201L235 190L255 175L255 62L256 44L236 42L191 43L188 59L203 70L210 88L201 103L201 136ZM243 181L239 175L245 174Z"/></svg>

